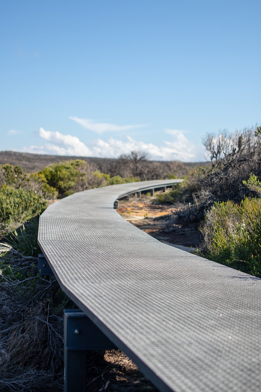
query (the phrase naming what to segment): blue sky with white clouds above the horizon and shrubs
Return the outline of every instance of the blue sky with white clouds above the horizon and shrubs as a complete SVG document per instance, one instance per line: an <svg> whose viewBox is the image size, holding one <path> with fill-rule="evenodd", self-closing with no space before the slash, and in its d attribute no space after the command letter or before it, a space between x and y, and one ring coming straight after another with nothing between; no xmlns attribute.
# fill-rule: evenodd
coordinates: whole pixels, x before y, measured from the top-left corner
<svg viewBox="0 0 261 392"><path fill-rule="evenodd" d="M261 2L3 0L0 151L203 161L261 123Z"/></svg>

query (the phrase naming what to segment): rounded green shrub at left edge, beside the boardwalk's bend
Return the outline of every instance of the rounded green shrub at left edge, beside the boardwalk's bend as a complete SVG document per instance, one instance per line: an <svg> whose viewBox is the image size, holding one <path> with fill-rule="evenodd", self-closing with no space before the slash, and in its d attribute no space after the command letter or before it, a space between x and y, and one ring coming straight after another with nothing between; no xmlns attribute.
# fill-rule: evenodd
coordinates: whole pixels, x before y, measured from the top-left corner
<svg viewBox="0 0 261 392"><path fill-rule="evenodd" d="M3 185L0 190L0 221L2 225L26 221L47 207L47 201L34 191Z"/></svg>

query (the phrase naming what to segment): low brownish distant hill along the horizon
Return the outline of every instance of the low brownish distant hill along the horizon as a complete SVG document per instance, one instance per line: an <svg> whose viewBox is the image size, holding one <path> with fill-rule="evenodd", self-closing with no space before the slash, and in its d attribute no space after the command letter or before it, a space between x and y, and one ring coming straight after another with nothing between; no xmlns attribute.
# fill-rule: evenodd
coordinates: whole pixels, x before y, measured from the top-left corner
<svg viewBox="0 0 261 392"><path fill-rule="evenodd" d="M85 156L58 156L58 155L41 155L29 154L28 152L15 152L15 151L0 151L0 165L9 163L9 165L20 165L26 171L37 172L50 166L53 163L61 161L69 161L73 159L82 159L89 163L96 163L97 166L102 167L110 162L116 161L116 158L89 158ZM155 161L154 161L155 162ZM163 161L158 161L163 162ZM207 166L208 162L183 162L188 169L195 166Z"/></svg>

